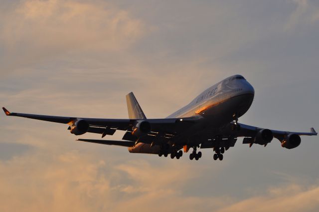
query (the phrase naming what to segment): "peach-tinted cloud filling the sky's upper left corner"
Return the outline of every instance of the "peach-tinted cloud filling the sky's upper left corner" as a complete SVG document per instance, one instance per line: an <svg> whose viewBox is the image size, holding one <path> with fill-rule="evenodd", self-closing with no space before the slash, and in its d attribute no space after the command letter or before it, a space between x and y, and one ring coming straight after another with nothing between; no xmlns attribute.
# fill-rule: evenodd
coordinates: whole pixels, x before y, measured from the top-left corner
<svg viewBox="0 0 319 212"><path fill-rule="evenodd" d="M146 30L141 20L103 1L22 0L0 19L2 70L79 49L120 51Z"/></svg>

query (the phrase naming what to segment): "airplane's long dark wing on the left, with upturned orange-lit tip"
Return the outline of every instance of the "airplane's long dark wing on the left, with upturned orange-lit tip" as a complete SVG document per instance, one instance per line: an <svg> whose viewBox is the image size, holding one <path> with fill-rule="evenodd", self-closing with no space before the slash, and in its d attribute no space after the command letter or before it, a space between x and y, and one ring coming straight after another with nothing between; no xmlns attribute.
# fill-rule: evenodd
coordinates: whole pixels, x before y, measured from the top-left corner
<svg viewBox="0 0 319 212"><path fill-rule="evenodd" d="M89 124L89 131L91 133L105 132L106 127L113 130L132 130L134 123L138 119L100 119L100 118L81 118L81 117L65 117L65 116L47 116L37 114L25 114L25 113L11 113L4 107L2 108L7 116L17 116L29 119L36 119L48 122L69 124L77 120L85 120ZM165 118L165 119L145 119L152 126L152 132L171 132L175 133L185 129L187 126L191 126L196 118ZM108 135L113 135L111 134Z"/></svg>

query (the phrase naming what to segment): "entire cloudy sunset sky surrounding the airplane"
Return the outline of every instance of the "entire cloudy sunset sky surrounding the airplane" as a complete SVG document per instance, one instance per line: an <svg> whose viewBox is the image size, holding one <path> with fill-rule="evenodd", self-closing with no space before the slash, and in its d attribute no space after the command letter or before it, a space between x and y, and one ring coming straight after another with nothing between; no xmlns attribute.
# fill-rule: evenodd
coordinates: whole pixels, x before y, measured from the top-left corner
<svg viewBox="0 0 319 212"><path fill-rule="evenodd" d="M11 112L163 118L242 74L239 122L319 131L317 0L0 0L0 103ZM238 139L224 160L76 142L67 125L0 114L0 211L317 212L317 137ZM116 132L109 139L121 139Z"/></svg>

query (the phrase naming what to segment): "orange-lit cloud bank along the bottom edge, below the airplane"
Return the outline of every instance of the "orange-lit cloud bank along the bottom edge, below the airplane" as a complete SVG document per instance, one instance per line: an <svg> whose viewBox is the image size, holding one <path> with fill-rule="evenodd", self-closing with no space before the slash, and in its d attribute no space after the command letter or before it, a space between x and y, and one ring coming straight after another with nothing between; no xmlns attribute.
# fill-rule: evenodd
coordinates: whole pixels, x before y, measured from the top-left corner
<svg viewBox="0 0 319 212"><path fill-rule="evenodd" d="M150 156L152 157L152 156ZM185 196L188 184L205 174L184 161L114 162L79 151L48 151L0 161L0 210L11 212L218 211L313 212L319 209L319 185L295 183L270 187L259 196Z"/></svg>

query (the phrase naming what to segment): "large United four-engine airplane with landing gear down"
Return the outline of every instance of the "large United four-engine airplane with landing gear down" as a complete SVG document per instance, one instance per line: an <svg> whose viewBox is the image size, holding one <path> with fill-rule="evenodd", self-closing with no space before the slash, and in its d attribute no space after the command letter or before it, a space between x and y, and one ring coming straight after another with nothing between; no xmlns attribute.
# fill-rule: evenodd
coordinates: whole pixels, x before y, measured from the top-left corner
<svg viewBox="0 0 319 212"><path fill-rule="evenodd" d="M254 99L253 86L242 76L230 76L209 87L189 104L163 119L147 119L140 104L131 92L126 95L129 119L99 119L11 113L2 108L7 116L18 116L42 121L68 124L74 135L85 133L113 135L117 130L126 131L122 141L77 139L77 141L127 147L130 153L156 154L179 159L190 148L190 160L198 160L202 153L197 149L212 149L213 159L223 160L223 154L234 147L238 137L243 144L264 145L273 138L286 149L301 144L302 135L315 136L317 132L288 132L264 129L238 123ZM182 151L183 150L183 151Z"/></svg>

